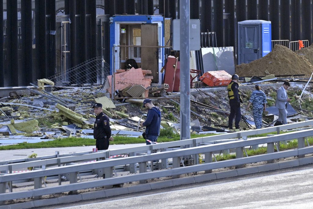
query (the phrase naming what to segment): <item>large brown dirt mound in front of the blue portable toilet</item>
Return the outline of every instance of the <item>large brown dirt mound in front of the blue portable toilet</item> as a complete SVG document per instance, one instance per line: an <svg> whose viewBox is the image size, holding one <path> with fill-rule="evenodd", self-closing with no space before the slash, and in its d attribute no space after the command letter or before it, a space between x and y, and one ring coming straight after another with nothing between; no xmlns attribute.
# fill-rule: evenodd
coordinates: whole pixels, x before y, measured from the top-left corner
<svg viewBox="0 0 313 209"><path fill-rule="evenodd" d="M311 53L313 55L313 50ZM261 59L254 60L249 64L237 65L236 73L241 77L266 76L270 74L305 74L303 77L310 77L313 71L312 66L304 56L294 53L285 46L276 44L274 49Z"/></svg>

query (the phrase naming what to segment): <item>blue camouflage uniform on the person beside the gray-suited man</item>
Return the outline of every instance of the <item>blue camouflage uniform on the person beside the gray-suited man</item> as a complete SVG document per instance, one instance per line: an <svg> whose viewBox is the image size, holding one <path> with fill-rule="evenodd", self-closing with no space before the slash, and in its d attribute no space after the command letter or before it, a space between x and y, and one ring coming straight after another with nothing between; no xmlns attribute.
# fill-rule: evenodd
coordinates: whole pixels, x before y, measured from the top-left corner
<svg viewBox="0 0 313 209"><path fill-rule="evenodd" d="M256 128L262 127L262 113L264 104L267 103L266 96L263 91L255 90L252 92L249 102L252 103L253 119Z"/></svg>

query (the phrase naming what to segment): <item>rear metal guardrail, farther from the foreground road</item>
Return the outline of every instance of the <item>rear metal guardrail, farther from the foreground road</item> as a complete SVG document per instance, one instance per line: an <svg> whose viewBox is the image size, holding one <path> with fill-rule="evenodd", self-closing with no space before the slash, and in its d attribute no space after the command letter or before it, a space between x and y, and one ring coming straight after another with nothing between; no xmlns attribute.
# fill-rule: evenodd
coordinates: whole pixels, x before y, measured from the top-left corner
<svg viewBox="0 0 313 209"><path fill-rule="evenodd" d="M157 150L169 151L173 148L182 147L186 145L190 145L191 147L197 147L202 144L213 143L214 141L223 140L223 139L246 139L249 136L257 135L257 134L264 134L264 133L272 133L276 132L277 134L280 131L287 130L287 129L294 129L294 128L301 128L305 126L312 126L313 120L298 122L298 123L291 123L281 126L274 126L269 128L261 128L255 130L248 130L248 131L240 131L235 133L226 133L220 135L213 135L207 137L199 137L193 139L186 139L174 142L167 142L161 144L152 144L152 145L144 145L139 147L132 147L132 148L124 148L124 149L116 149L116 150L106 150L102 152L81 152L81 153L70 153L70 154L63 154L63 155L49 155L49 156L42 156L39 157L38 160L36 158L31 159L32 161L26 162L27 159L19 159L19 160L8 160L8 161L0 161L0 171L4 173L12 173L13 170L28 168L28 167L42 167L45 166L48 168L49 166L55 166L59 164L67 164L67 163L74 163L78 161L90 161L97 158L109 158L110 156L114 155L123 155L127 154L128 156L136 156L137 153L153 153ZM68 156L72 155L72 156ZM2 165L1 165L2 164ZM4 165L3 165L4 164ZM60 165L59 165L60 166ZM167 168L166 165L163 165L162 168Z"/></svg>

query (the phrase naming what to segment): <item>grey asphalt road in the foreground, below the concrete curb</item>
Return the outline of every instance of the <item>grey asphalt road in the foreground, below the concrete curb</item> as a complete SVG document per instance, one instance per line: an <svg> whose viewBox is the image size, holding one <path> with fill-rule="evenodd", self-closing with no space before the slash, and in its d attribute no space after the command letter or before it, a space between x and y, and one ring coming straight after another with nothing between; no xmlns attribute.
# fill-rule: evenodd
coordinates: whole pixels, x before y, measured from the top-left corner
<svg viewBox="0 0 313 209"><path fill-rule="evenodd" d="M313 208L313 165L45 208Z"/></svg>

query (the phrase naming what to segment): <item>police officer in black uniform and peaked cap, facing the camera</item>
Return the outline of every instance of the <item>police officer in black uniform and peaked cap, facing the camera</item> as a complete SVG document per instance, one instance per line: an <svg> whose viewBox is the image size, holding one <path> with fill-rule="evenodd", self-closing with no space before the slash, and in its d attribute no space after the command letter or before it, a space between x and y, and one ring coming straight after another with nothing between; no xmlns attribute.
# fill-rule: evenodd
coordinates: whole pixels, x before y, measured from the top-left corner
<svg viewBox="0 0 313 209"><path fill-rule="evenodd" d="M94 124L96 148L98 148L98 150L106 150L109 148L109 139L111 138L110 120L102 112L102 104L95 103L92 108L94 108L96 115L96 121Z"/></svg>

